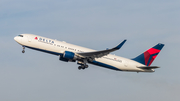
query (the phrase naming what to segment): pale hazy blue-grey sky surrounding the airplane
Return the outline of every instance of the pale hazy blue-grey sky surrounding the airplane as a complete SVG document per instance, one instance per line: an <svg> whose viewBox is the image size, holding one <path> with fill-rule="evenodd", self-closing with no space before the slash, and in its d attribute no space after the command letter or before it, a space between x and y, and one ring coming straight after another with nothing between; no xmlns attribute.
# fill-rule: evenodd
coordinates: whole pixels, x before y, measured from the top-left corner
<svg viewBox="0 0 180 101"><path fill-rule="evenodd" d="M179 101L180 1L1 0L1 101ZM165 47L155 73L117 72L26 49L13 38L37 34L133 58L157 43Z"/></svg>

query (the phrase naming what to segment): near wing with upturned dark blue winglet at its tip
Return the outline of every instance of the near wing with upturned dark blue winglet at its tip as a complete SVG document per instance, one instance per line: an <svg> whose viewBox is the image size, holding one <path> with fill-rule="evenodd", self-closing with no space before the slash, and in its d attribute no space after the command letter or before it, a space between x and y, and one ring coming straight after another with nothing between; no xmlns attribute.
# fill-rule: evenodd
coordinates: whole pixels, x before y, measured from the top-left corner
<svg viewBox="0 0 180 101"><path fill-rule="evenodd" d="M123 44L126 42L126 40L124 40L123 42L121 42L118 46L112 48L112 49L107 49L107 50L102 50L102 51L94 51L94 52L83 52L83 53L77 53L80 56L83 57L87 57L87 58L100 58L103 57L105 55L108 55L109 53L119 50Z"/></svg>

